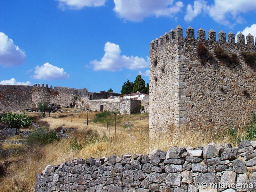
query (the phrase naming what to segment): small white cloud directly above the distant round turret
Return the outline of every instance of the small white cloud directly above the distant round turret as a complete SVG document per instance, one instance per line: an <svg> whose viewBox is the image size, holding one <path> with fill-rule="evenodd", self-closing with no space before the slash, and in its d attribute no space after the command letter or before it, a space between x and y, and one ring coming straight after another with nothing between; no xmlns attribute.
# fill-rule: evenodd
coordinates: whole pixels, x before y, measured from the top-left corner
<svg viewBox="0 0 256 192"><path fill-rule="evenodd" d="M69 78L69 75L63 68L58 68L48 62L44 63L41 67L36 66L34 73L35 75L31 76L33 79L60 80Z"/></svg>

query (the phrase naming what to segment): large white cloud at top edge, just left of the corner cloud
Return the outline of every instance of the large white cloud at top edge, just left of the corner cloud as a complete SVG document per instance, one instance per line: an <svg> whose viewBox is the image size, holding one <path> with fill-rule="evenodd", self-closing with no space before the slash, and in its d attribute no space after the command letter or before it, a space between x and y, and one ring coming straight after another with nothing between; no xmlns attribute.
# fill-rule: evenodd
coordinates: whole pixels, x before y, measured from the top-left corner
<svg viewBox="0 0 256 192"><path fill-rule="evenodd" d="M130 21L142 21L146 17L174 17L181 11L183 3L174 0L114 0L114 11L120 18Z"/></svg>

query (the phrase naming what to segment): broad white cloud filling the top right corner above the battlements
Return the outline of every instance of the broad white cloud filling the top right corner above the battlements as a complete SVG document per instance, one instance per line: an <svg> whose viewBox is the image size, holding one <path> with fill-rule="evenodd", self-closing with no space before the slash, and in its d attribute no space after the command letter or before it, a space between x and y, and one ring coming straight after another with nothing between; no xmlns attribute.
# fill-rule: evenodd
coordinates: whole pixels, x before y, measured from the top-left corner
<svg viewBox="0 0 256 192"><path fill-rule="evenodd" d="M230 0L214 0L212 5L206 5L205 1L196 0L194 1L194 9L191 4L188 4L184 19L191 21L202 10L216 22L232 27L236 23L244 22L242 14L256 10L256 1L232 0L231 2Z"/></svg>

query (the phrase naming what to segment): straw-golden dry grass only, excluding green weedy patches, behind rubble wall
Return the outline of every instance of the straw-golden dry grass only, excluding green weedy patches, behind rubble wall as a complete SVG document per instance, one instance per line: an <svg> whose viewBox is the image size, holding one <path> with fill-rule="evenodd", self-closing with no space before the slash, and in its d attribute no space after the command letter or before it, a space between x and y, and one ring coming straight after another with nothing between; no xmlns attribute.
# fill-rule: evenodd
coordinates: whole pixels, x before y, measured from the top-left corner
<svg viewBox="0 0 256 192"><path fill-rule="evenodd" d="M90 114L90 113L89 113ZM50 124L50 129L56 129L59 126L62 128L77 128L76 136L83 148L72 150L70 148L70 140L60 140L58 143L52 143L40 148L24 149L19 156L11 156L8 161L11 162L7 166L7 174L5 177L0 177L0 191L34 191L36 183L36 174L41 173L48 164L61 164L65 161L71 161L77 158L100 158L116 154L148 154L152 150L159 148L168 150L172 146L179 147L198 147L208 143L215 142L217 144L229 142L233 146L237 146L238 137L236 140L227 134L227 131L213 130L211 127L205 127L204 130L199 130L192 127L170 127L167 133L160 134L159 138L151 139L148 134L148 117L146 115L123 116L121 123L117 127L117 134L114 134L114 127L110 127L111 139L98 140L92 144L84 144L84 133L89 129L97 131L99 135L105 132L109 136L109 130L104 128L102 124L92 123L93 113L89 116L88 127L84 123L87 113L78 115L59 117L45 117L44 121ZM133 124L133 130L127 131L122 126L122 123L130 121ZM243 133L243 126L240 132ZM127 134L129 132L132 137ZM0 159L0 162L4 159Z"/></svg>

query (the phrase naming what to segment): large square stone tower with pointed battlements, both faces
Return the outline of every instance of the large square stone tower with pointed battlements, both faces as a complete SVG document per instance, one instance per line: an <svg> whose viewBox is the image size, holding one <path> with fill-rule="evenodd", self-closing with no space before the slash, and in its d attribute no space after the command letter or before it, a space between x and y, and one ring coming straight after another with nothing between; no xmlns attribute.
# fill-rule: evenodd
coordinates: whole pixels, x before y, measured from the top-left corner
<svg viewBox="0 0 256 192"><path fill-rule="evenodd" d="M256 45L253 36L177 26L150 43L149 128L151 136L168 126L226 128L255 111ZM250 59L248 59L250 58Z"/></svg>

